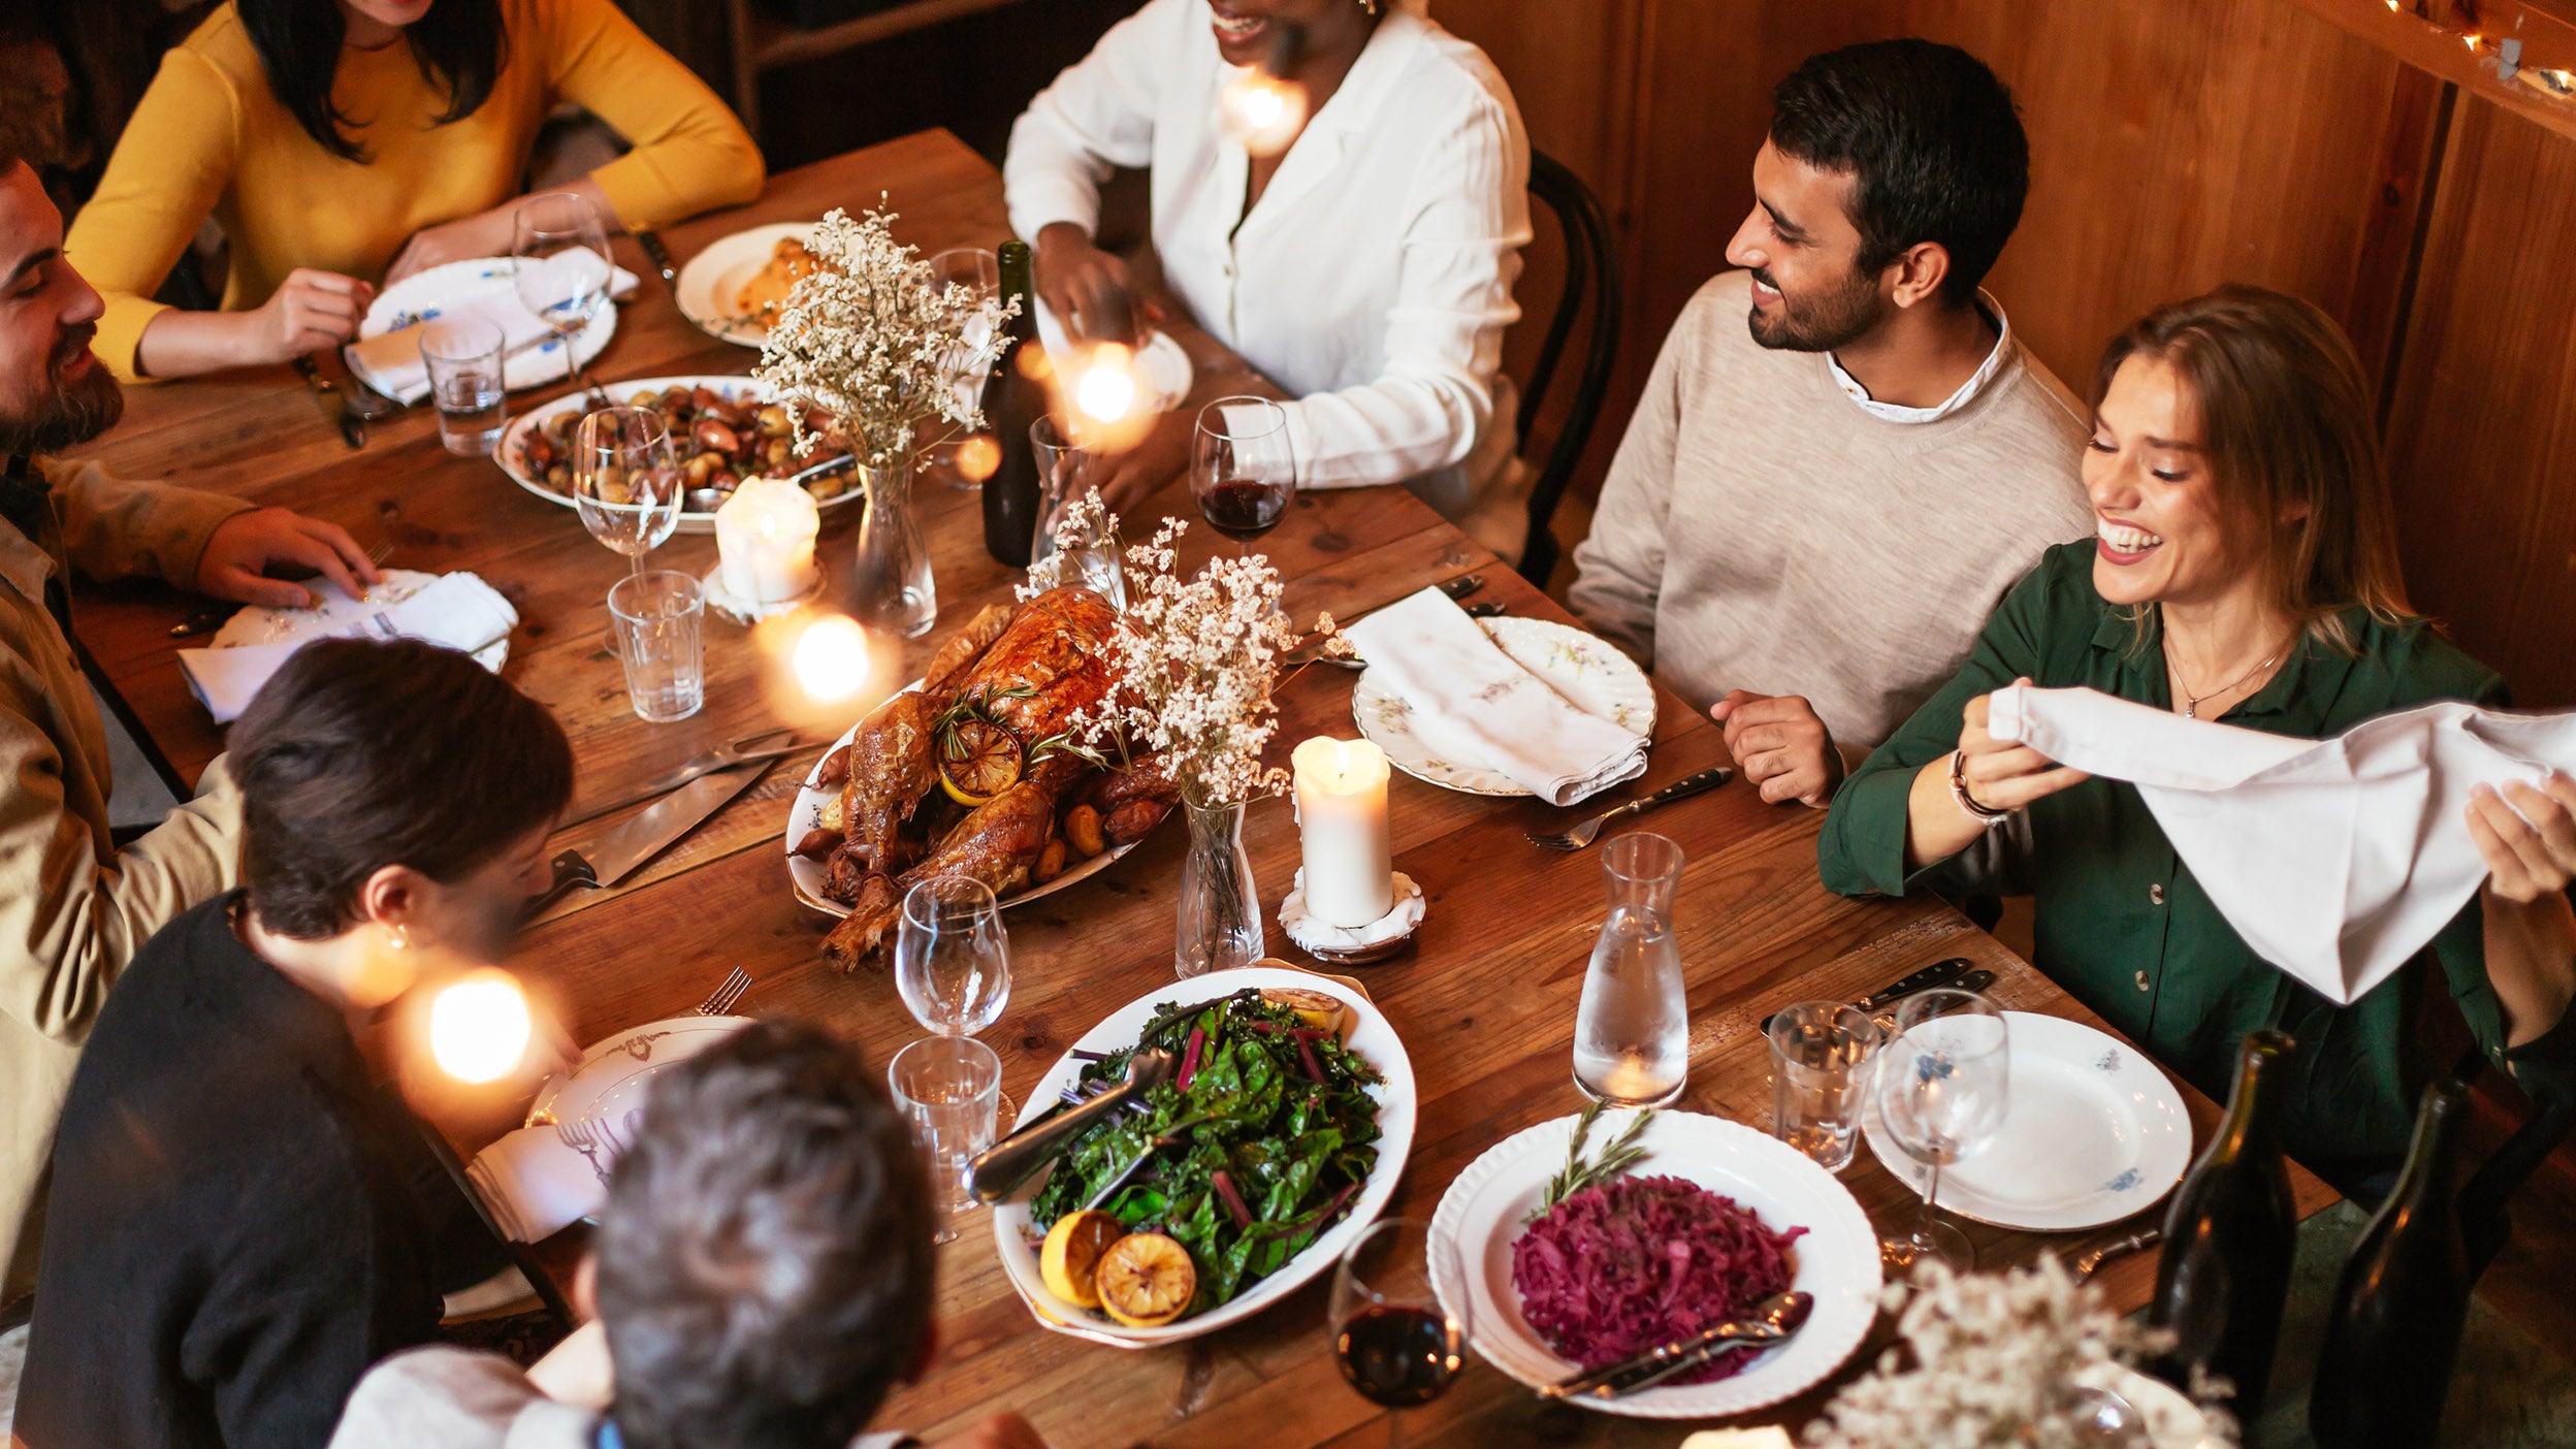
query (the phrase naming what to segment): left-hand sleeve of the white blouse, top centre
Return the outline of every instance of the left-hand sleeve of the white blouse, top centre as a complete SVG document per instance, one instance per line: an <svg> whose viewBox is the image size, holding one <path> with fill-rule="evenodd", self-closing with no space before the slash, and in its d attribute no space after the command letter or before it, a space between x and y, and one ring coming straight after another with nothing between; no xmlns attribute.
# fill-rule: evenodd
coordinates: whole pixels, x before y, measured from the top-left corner
<svg viewBox="0 0 2576 1449"><path fill-rule="evenodd" d="M1002 199L1010 229L1036 242L1056 222L1100 224L1100 183L1154 160L1154 108L1190 0L1151 0L1064 67L1010 126Z"/></svg>

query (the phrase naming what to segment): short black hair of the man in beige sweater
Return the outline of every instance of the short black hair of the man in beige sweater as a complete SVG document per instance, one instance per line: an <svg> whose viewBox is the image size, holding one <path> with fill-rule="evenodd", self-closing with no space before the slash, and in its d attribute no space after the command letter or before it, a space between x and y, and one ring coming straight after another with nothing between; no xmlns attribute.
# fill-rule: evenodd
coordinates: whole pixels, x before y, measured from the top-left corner
<svg viewBox="0 0 2576 1449"><path fill-rule="evenodd" d="M2030 196L2012 90L1958 46L1909 39L1814 54L1772 88L1770 139L1793 160L1852 173L1862 273L1940 242L1953 307L1976 304Z"/></svg>

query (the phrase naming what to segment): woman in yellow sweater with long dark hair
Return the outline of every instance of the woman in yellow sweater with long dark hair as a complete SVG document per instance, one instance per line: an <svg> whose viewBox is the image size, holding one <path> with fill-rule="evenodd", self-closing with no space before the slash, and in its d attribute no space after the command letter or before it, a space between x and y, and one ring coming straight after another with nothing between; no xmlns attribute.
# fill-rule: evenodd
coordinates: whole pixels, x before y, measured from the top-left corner
<svg viewBox="0 0 2576 1449"><path fill-rule="evenodd" d="M760 147L613 0L234 0L162 57L64 253L118 376L278 364L358 335L379 281L505 255L556 101L634 142L564 191L608 227L760 193ZM152 302L206 217L222 312Z"/></svg>

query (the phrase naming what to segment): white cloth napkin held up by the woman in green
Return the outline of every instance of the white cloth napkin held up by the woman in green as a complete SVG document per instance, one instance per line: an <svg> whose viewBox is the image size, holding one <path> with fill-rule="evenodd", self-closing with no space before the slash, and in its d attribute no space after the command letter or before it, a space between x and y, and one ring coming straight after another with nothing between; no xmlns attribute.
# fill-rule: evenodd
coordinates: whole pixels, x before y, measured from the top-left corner
<svg viewBox="0 0 2576 1449"><path fill-rule="evenodd" d="M2009 686L1986 730L2136 784L2228 926L2334 1003L2388 980L2486 882L2470 789L2576 771L2576 714L2476 704L2290 740L2092 688Z"/></svg>

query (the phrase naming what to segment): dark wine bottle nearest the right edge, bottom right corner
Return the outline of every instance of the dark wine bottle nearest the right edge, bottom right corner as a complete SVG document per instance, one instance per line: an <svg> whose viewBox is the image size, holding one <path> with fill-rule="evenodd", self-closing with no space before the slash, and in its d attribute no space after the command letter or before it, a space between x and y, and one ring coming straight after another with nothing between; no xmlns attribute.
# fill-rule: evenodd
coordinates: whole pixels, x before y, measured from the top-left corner
<svg viewBox="0 0 2576 1449"><path fill-rule="evenodd" d="M2308 1390L2316 1449L2421 1449L2442 1426L2468 1323L2468 1240L2452 1183L2468 1088L2424 1088L2396 1191L2344 1258Z"/></svg>

